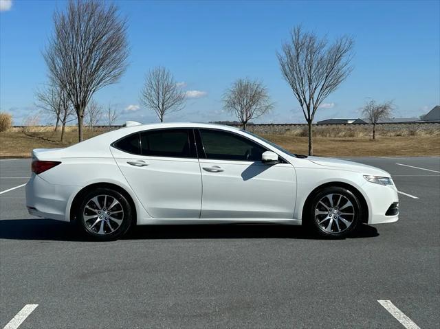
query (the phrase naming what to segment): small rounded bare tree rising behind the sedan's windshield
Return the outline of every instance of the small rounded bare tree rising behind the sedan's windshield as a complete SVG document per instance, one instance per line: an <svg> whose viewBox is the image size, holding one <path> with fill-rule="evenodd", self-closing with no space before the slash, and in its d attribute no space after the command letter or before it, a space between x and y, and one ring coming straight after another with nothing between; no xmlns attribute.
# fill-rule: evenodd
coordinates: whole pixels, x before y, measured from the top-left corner
<svg viewBox="0 0 440 329"><path fill-rule="evenodd" d="M248 78L236 80L225 91L223 103L224 109L234 114L245 130L249 120L261 117L274 107L267 88L261 82Z"/></svg>

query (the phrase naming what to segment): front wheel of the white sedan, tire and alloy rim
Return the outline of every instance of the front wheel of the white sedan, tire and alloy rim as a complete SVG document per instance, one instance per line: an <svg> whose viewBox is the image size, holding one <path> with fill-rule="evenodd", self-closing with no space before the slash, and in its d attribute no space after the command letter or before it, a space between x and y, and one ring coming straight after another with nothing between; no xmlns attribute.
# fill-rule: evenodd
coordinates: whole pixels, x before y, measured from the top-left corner
<svg viewBox="0 0 440 329"><path fill-rule="evenodd" d="M308 224L320 236L345 238L358 228L362 204L346 188L330 186L318 191L308 209Z"/></svg>

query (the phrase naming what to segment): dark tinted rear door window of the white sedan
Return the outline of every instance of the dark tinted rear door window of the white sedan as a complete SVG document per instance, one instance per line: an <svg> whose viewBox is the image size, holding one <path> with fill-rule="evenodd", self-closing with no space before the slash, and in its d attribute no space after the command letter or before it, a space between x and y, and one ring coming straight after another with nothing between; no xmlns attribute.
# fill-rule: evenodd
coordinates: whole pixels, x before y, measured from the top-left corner
<svg viewBox="0 0 440 329"><path fill-rule="evenodd" d="M186 129L144 131L140 137L142 155L153 157L192 157Z"/></svg>

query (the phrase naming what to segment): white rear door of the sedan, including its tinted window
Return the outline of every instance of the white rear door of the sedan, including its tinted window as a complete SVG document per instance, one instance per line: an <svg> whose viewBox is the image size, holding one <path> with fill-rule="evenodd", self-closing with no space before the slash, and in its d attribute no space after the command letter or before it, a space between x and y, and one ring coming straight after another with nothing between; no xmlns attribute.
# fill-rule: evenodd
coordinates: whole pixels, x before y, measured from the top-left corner
<svg viewBox="0 0 440 329"><path fill-rule="evenodd" d="M199 218L201 172L190 129L142 131L116 141L111 152L153 218Z"/></svg>

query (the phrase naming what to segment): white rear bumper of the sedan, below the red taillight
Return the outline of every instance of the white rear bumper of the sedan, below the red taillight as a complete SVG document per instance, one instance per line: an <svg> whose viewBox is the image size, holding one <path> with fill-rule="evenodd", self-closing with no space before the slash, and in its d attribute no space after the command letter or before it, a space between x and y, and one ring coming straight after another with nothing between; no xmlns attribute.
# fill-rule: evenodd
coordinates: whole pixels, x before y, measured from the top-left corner
<svg viewBox="0 0 440 329"><path fill-rule="evenodd" d="M26 206L32 216L66 221L67 201L76 186L47 183L36 174L25 186Z"/></svg>

